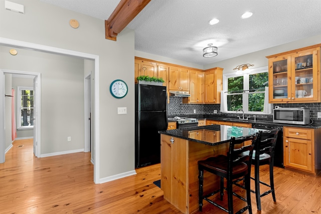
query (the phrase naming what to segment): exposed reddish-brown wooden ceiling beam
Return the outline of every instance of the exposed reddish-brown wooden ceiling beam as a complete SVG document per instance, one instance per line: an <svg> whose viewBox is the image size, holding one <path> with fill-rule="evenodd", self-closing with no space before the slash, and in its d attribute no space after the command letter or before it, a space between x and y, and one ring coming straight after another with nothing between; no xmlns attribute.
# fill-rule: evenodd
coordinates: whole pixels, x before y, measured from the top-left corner
<svg viewBox="0 0 321 214"><path fill-rule="evenodd" d="M108 20L105 20L105 38L116 41L117 35L151 0L121 0Z"/></svg>

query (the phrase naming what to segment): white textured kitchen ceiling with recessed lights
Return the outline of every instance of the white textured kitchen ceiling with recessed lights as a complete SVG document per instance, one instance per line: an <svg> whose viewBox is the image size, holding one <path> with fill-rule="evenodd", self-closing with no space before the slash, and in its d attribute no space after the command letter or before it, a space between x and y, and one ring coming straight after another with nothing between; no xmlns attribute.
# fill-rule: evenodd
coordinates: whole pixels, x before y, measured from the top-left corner
<svg viewBox="0 0 321 214"><path fill-rule="evenodd" d="M102 20L120 2L41 1ZM241 19L248 11L253 16ZM220 22L211 26L213 18ZM135 30L136 51L207 65L321 35L321 0L151 0L127 27ZM218 56L203 57L209 43Z"/></svg>

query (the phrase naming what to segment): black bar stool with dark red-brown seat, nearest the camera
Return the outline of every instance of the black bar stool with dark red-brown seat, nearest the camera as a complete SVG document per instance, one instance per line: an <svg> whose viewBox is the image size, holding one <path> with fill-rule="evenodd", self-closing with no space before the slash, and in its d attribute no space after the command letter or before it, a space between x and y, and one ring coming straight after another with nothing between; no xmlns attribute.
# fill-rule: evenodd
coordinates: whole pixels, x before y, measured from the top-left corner
<svg viewBox="0 0 321 214"><path fill-rule="evenodd" d="M233 195L247 202L247 205L240 209L237 213L242 213L245 210L249 210L252 213L251 207L251 196L250 196L250 175L251 175L251 162L252 152L257 142L259 133L252 136L235 138L232 137L230 140L229 152L226 155L218 155L215 157L209 157L206 160L200 160L199 165L199 210L202 211L203 199L207 200L211 204L225 210L228 213L233 212ZM242 144L245 141L252 140L251 145L242 146L241 148L235 149L234 146ZM245 151L248 151L246 154ZM243 155L242 155L243 154ZM203 195L203 176L204 170L216 174L221 177L220 189L215 190L207 195ZM227 179L227 187L224 187L224 177ZM245 188L246 188L246 199L242 196L233 192L232 184L233 180L244 177ZM220 192L221 200L223 200L224 189L227 190L228 209L219 205L218 203L211 200L209 197Z"/></svg>

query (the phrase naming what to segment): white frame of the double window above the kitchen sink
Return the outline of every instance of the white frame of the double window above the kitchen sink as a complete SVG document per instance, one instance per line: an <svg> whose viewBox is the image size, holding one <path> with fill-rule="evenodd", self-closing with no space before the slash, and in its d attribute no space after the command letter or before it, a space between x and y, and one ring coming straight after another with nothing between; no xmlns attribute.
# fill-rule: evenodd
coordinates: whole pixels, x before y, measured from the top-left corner
<svg viewBox="0 0 321 214"><path fill-rule="evenodd" d="M250 73L246 73L246 74L240 74L237 75L234 73L227 73L223 75L223 91L227 91L228 90L228 78L231 77L240 77L243 76L243 90L249 90L249 75L253 75L253 74L259 74L259 73L268 73L268 66L264 66L264 67L260 67L260 68L254 68L254 69L249 69ZM233 93L233 95L237 95L237 94L242 94L243 95L243 99L242 99L242 105L243 105L243 111L244 114L266 114L259 111L248 111L249 105L248 105L248 100L249 100L249 94L256 94L256 93L265 93L264 91L262 92L249 92L249 91L245 91L245 92L240 92L240 93ZM236 111L226 111L224 113L236 113ZM237 112L238 114L240 113Z"/></svg>

